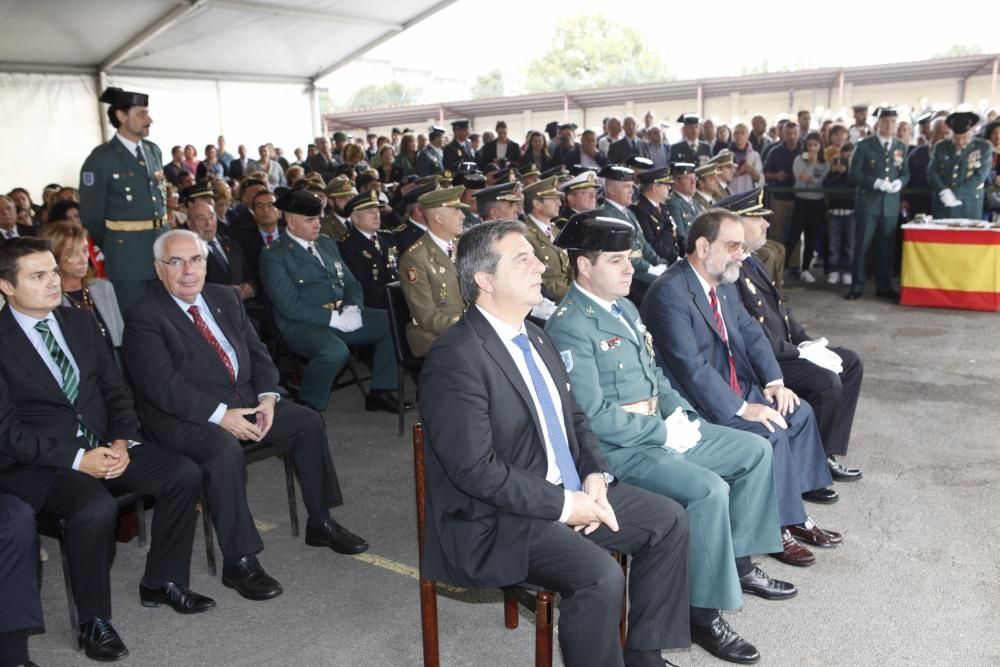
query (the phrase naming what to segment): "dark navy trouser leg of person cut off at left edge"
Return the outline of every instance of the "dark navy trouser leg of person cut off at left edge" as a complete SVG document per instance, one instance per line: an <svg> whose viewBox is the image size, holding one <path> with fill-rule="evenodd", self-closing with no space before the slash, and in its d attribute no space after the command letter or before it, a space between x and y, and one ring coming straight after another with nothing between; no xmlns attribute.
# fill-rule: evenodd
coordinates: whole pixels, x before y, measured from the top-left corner
<svg viewBox="0 0 1000 667"><path fill-rule="evenodd" d="M0 400L9 409L7 397ZM31 507L0 494L0 599L4 601L0 606L0 665L4 667L37 667L28 660L28 633L43 624L36 530Z"/></svg>

